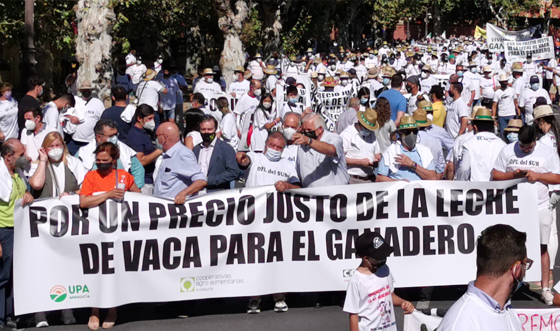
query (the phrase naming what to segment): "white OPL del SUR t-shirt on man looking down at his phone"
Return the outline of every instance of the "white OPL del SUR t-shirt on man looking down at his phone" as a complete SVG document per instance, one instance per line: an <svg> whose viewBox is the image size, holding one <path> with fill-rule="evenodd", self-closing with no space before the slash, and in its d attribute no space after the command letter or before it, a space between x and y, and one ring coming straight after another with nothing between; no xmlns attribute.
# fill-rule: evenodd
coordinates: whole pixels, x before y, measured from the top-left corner
<svg viewBox="0 0 560 331"><path fill-rule="evenodd" d="M536 142L533 152L525 154L519 148L519 142L508 144L502 149L500 155L496 159L494 169L509 173L516 169L531 170L535 173L560 174L560 160L556 150L545 146L540 142ZM548 187L547 185L536 181L532 185L536 185L538 192L539 210L548 208Z"/></svg>

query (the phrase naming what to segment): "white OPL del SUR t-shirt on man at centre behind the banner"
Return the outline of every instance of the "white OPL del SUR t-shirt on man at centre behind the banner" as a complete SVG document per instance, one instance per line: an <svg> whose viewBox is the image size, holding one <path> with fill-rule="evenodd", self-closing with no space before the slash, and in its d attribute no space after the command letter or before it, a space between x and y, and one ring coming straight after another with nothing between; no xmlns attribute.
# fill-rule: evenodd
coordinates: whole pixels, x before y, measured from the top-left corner
<svg viewBox="0 0 560 331"><path fill-rule="evenodd" d="M287 158L270 161L264 153L248 152L251 163L245 170L245 187L274 185L277 181L298 183L296 167Z"/></svg>

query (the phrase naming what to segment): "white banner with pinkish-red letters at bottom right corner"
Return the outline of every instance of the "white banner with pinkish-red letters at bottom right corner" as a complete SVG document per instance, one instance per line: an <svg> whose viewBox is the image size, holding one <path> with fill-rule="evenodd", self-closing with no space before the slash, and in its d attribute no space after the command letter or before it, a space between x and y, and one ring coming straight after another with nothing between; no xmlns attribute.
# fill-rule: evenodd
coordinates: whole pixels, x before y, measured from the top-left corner
<svg viewBox="0 0 560 331"><path fill-rule="evenodd" d="M560 308L520 308L515 310L524 331L557 331L560 329ZM430 315L414 310L404 315L404 331L434 331L443 319L442 310L431 309Z"/></svg>

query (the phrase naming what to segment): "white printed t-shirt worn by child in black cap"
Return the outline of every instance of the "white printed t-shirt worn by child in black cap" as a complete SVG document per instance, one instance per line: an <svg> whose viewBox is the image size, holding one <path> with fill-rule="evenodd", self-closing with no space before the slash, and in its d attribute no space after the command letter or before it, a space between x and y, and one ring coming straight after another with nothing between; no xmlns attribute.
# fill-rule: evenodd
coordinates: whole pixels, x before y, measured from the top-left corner
<svg viewBox="0 0 560 331"><path fill-rule="evenodd" d="M393 307L393 275L385 265L374 274L354 271L348 288L343 311L358 315L360 331L396 331Z"/></svg>

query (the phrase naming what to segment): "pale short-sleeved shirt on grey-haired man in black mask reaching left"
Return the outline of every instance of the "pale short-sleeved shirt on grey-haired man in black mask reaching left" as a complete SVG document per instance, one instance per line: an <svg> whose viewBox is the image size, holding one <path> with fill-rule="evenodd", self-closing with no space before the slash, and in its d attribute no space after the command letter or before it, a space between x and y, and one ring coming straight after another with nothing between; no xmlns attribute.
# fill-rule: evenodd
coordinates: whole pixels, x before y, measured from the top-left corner
<svg viewBox="0 0 560 331"><path fill-rule="evenodd" d="M344 158L342 138L336 133L324 130L321 142L329 143L337 150L337 155L326 156L309 146L300 145L297 152L296 169L303 187L323 187L346 185L350 176Z"/></svg>

